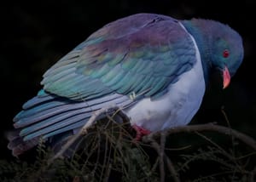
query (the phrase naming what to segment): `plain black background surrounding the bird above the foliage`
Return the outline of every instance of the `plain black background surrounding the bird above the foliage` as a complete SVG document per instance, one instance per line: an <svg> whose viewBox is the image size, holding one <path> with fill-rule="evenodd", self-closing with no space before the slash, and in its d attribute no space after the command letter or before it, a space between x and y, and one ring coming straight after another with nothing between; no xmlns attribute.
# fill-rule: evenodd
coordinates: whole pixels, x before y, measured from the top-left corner
<svg viewBox="0 0 256 182"><path fill-rule="evenodd" d="M229 88L223 90L219 82L209 85L192 123L225 124L224 106L232 128L256 138L253 0L20 2L0 5L1 158L11 155L3 134L12 128L12 118L21 105L41 88L44 71L108 22L143 12L218 20L241 34L245 55L240 69Z"/></svg>

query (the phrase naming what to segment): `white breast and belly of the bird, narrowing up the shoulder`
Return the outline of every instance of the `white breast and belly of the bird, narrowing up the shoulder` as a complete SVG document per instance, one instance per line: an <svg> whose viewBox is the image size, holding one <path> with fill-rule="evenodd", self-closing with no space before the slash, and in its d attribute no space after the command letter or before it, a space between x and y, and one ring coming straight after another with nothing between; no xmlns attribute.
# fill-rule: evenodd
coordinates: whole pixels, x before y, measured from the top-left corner
<svg viewBox="0 0 256 182"><path fill-rule="evenodd" d="M186 125L194 117L205 93L205 81L199 50L194 38L190 37L195 44L195 66L184 72L177 82L169 86L168 93L158 100L144 99L126 111L131 118L131 125L159 131Z"/></svg>

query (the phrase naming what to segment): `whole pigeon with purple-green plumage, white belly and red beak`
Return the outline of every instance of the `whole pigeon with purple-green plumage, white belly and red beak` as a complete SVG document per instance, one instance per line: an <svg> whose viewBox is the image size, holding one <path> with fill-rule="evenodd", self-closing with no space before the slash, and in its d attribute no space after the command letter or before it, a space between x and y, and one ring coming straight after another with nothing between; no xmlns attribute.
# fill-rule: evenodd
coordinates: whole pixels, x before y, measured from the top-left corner
<svg viewBox="0 0 256 182"><path fill-rule="evenodd" d="M95 111L117 105L137 134L189 124L213 71L223 88L243 60L240 34L217 20L132 14L102 26L44 73L14 117L13 156L40 139L77 134Z"/></svg>

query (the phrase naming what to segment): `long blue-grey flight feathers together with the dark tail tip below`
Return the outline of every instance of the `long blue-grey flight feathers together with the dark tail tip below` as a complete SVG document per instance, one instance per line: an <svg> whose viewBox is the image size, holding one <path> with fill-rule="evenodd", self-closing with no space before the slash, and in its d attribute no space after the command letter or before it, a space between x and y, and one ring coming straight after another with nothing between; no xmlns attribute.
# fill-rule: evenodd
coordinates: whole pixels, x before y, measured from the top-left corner
<svg viewBox="0 0 256 182"><path fill-rule="evenodd" d="M7 134L8 148L14 156L38 145L42 137L47 140L61 137L59 145L89 120L92 113L108 105L131 105L133 100L121 94L102 96L96 100L74 101L48 94L41 90L32 100L23 105L23 111L14 118L15 132ZM56 139L55 139L56 140ZM58 147L57 147L58 148Z"/></svg>

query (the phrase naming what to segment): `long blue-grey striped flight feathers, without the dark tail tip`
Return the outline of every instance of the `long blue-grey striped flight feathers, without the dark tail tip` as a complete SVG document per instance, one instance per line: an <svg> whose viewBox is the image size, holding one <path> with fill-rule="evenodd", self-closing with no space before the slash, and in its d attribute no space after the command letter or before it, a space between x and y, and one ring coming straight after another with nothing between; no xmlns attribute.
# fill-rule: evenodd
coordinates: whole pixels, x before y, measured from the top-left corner
<svg viewBox="0 0 256 182"><path fill-rule="evenodd" d="M15 117L15 128L20 128L20 137L24 140L60 134L83 126L94 111L107 105L126 107L133 103L122 94L109 94L96 100L73 101L59 96L50 100L36 96L27 107ZM40 103L40 104L38 104ZM78 127L79 126L79 127Z"/></svg>

